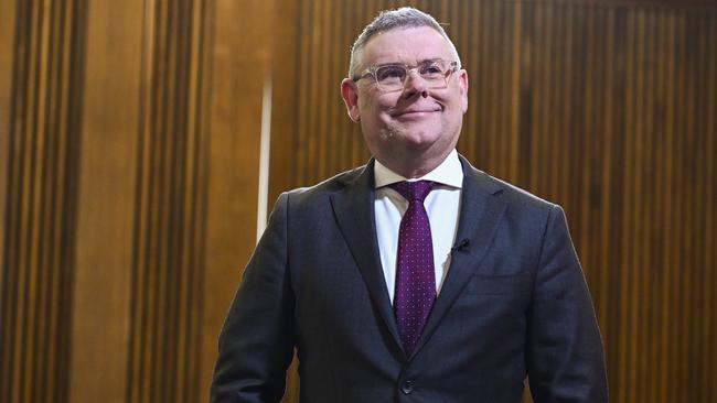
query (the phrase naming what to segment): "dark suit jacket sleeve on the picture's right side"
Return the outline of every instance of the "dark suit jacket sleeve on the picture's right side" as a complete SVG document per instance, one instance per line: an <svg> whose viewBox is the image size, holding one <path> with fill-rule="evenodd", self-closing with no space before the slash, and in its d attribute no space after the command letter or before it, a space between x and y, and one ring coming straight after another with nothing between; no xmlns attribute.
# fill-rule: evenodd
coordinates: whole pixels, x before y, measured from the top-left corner
<svg viewBox="0 0 717 403"><path fill-rule="evenodd" d="M548 214L528 309L527 370L535 403L608 401L604 352L563 209Z"/></svg>

